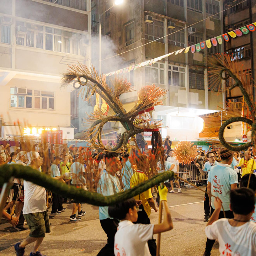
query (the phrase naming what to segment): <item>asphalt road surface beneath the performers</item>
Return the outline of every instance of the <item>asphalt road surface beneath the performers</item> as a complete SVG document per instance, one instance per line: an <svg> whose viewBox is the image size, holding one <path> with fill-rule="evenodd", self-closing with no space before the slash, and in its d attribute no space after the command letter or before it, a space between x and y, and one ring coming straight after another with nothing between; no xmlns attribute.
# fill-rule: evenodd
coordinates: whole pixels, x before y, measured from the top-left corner
<svg viewBox="0 0 256 256"><path fill-rule="evenodd" d="M204 189L204 187L203 187ZM168 194L167 200L171 211L174 229L161 235L161 256L201 256L203 255L206 235L203 222L202 191L196 188L182 188L182 193ZM40 247L47 256L96 256L106 244L106 234L98 220L98 207L83 204L86 214L79 222L70 222L72 205L64 204L66 211L60 215L50 215L51 233L46 234ZM151 223L158 223L158 213L154 210ZM0 255L15 255L14 245L26 238L29 231L12 232L9 223L0 220ZM157 235L154 235L157 239ZM29 255L32 245L28 245L25 255ZM212 256L219 255L218 242L215 242Z"/></svg>

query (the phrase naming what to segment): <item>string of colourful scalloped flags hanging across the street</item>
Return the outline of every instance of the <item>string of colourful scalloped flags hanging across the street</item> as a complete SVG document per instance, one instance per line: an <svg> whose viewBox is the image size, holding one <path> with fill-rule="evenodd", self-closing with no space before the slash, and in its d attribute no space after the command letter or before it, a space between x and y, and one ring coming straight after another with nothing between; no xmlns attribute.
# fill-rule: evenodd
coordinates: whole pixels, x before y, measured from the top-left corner
<svg viewBox="0 0 256 256"><path fill-rule="evenodd" d="M254 22L252 24L249 24L247 26L238 28L236 30L230 31L228 33L222 34L220 36L210 38L210 39L208 39L206 41L203 41L201 43L197 43L197 44L194 44L192 46L188 46L188 47L182 48L180 50L176 50L175 52L167 53L167 54L162 55L160 57L156 57L156 58L151 59L151 60L146 60L146 61L141 62L139 64L135 64L135 65L129 66L127 68L123 68L123 69L119 69L117 71L113 71L113 72L107 73L107 74L105 74L105 76L125 74L125 73L128 73L128 72L132 71L132 70L136 70L137 68L140 68L142 66L152 65L152 64L156 63L158 60L161 60L161 59L164 59L166 57L169 57L172 54L177 55L179 53L182 53L183 51L184 51L184 53L188 53L189 50L191 50L191 53L200 52L205 47L211 48L212 46L217 46L218 44L222 44L223 40L228 42L229 41L229 36L231 38L235 38L237 36L240 37L243 34L248 34L249 31L250 32L254 32L255 30L256 30L256 22Z"/></svg>

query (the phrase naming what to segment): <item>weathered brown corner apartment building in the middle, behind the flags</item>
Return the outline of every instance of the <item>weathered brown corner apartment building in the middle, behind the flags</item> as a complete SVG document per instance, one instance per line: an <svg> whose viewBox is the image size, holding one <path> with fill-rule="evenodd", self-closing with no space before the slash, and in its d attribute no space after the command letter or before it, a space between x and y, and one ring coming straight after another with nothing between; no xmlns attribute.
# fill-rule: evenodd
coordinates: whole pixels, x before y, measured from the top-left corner
<svg viewBox="0 0 256 256"><path fill-rule="evenodd" d="M113 1L91 1L92 32L98 31L94 21L112 5ZM123 6L101 16L102 35L112 39L126 66L134 65L219 36L223 33L222 8L222 1L215 0L124 1ZM222 52L222 47L218 44L194 54L172 54L127 73L136 91L122 96L126 110L134 104L140 87L156 84L168 90L164 105L154 112L154 119L163 119L169 127L162 129L162 136L198 138L202 128L197 116L224 106L225 95L211 86L207 72L210 56ZM102 70L106 66L108 72L115 71L110 70L108 60L102 60Z"/></svg>

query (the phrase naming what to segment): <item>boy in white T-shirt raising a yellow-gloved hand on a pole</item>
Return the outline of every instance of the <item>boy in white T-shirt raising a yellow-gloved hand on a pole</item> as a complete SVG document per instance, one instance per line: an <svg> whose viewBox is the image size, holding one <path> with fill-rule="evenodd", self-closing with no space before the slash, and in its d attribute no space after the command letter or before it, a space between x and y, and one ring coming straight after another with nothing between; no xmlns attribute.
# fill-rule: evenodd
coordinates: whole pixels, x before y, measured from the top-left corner
<svg viewBox="0 0 256 256"><path fill-rule="evenodd" d="M134 198L108 207L112 218L121 220L114 237L115 256L150 256L148 240L153 234L162 233L173 228L171 214L167 205L168 189L158 187L160 201L164 205L164 221L161 224L133 224L138 219L139 206ZM138 202L138 203L141 203Z"/></svg>

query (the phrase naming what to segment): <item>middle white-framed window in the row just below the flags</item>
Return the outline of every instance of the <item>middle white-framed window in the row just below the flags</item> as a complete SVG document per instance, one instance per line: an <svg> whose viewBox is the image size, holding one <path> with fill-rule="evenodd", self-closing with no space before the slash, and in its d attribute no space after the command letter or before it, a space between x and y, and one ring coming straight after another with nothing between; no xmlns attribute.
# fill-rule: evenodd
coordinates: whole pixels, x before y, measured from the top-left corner
<svg viewBox="0 0 256 256"><path fill-rule="evenodd" d="M168 69L168 84L185 87L185 68L169 65Z"/></svg>

